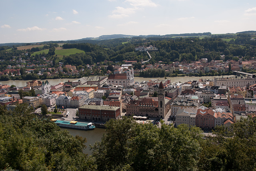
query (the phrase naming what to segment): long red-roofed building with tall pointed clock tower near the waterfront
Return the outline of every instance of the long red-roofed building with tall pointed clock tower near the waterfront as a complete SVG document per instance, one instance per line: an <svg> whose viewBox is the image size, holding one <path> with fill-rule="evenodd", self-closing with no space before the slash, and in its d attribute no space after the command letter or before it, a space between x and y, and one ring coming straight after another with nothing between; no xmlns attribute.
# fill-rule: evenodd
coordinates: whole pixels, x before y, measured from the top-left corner
<svg viewBox="0 0 256 171"><path fill-rule="evenodd" d="M170 110L171 104L171 98L166 97L165 94L164 85L161 82L158 97L145 97L139 100L131 100L126 105L126 115L164 118Z"/></svg>

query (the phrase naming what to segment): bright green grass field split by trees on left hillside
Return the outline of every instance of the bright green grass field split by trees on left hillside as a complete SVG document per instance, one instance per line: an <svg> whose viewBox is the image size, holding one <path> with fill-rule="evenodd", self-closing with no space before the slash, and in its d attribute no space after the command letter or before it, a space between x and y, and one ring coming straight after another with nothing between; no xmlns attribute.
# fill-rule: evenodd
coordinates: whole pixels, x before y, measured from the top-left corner
<svg viewBox="0 0 256 171"><path fill-rule="evenodd" d="M32 56L36 55L36 54L40 54L40 53L48 53L49 49L44 49L42 51L38 51L38 52L34 52L32 53ZM84 53L84 51L76 49L76 48L72 48L72 49L62 49L62 47L57 47L55 50L55 55L57 55L58 58L62 58L64 55L68 56L68 55L72 55L72 54L76 54L76 53Z"/></svg>

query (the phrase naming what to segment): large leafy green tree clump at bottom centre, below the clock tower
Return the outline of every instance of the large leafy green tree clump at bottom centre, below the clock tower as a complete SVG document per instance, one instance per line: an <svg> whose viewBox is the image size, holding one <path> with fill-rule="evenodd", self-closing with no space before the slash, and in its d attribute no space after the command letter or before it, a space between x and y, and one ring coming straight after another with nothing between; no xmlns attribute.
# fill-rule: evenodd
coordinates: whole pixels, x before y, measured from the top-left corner
<svg viewBox="0 0 256 171"><path fill-rule="evenodd" d="M193 170L201 140L199 128L163 124L159 129L123 117L106 123L102 141L92 146L93 157L100 170Z"/></svg>

